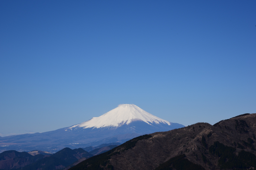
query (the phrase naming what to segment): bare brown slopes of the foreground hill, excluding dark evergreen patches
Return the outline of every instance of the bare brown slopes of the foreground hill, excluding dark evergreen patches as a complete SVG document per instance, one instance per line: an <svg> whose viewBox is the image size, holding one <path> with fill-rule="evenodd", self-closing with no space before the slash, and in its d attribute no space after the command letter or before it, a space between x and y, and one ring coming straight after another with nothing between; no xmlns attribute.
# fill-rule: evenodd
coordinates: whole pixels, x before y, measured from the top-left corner
<svg viewBox="0 0 256 170"><path fill-rule="evenodd" d="M219 141L224 145L235 147L236 155L243 147L243 150L255 155L255 150L252 150L252 146L256 148L254 134L256 134L256 114L230 118L215 125L197 123L172 131L153 133L152 138L140 140L135 147L112 156L110 164L115 170L153 170L170 158L185 153L188 160L205 169L220 169L219 157L209 153L209 147L215 141ZM206 145L202 142L203 136ZM246 146L243 142L248 143L248 138L253 139L252 146ZM203 159L202 153L206 159Z"/></svg>

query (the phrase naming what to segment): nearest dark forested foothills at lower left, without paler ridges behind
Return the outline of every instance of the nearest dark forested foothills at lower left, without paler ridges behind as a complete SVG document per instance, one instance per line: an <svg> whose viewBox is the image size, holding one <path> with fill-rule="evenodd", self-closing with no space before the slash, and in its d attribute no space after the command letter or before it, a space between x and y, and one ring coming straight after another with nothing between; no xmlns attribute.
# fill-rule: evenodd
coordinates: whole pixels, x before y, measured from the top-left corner
<svg viewBox="0 0 256 170"><path fill-rule="evenodd" d="M64 148L51 155L36 154L35 156L27 152L5 151L0 153L0 169L63 169L79 159L82 161L92 156L82 148L74 150Z"/></svg>

